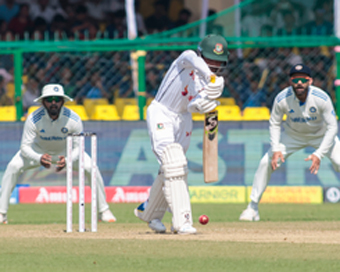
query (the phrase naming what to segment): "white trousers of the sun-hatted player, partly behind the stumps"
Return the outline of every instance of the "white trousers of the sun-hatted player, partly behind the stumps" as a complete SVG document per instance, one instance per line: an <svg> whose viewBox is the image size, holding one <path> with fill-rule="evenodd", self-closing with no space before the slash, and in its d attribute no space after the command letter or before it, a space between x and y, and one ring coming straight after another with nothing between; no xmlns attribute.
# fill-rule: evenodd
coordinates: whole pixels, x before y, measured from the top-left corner
<svg viewBox="0 0 340 272"><path fill-rule="evenodd" d="M0 213L6 214L9 205L9 199L11 193L18 183L19 176L26 170L40 167L39 162L29 160L21 155L19 150L12 160L7 165L5 173L1 182L1 196L0 196ZM73 162L73 169L78 170L78 160ZM87 181L91 180L91 158L85 153L84 156L84 169ZM66 177L65 177L66 179ZM65 182L66 184L66 182ZM104 190L103 178L97 167L97 199L98 199L98 211L103 212L109 208L106 202L106 195Z"/></svg>

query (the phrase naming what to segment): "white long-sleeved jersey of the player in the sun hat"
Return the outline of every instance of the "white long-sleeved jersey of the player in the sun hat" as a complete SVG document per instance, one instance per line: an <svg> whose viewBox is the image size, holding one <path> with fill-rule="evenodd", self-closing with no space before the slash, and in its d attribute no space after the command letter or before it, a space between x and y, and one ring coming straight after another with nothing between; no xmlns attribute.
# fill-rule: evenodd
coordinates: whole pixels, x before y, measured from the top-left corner
<svg viewBox="0 0 340 272"><path fill-rule="evenodd" d="M72 110L62 107L57 120L52 120L44 107L40 107L27 117L21 140L21 153L24 157L40 161L48 153L52 161L59 155L66 155L66 137L69 133L83 132L80 117ZM78 141L73 141L72 158L78 155Z"/></svg>

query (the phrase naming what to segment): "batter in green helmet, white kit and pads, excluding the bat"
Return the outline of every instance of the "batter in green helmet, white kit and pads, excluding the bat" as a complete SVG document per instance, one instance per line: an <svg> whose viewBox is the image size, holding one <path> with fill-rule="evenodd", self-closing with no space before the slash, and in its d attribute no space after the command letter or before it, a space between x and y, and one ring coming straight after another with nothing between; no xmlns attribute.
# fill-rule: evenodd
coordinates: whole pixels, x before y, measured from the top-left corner
<svg viewBox="0 0 340 272"><path fill-rule="evenodd" d="M208 35L201 41L198 55L187 50L172 63L148 107L147 125L160 169L148 201L135 209L135 215L156 232L166 231L161 221L170 208L174 233L196 233L185 157L192 132L191 113L209 112L219 104L214 99L221 95L224 79L210 79L226 66L228 54L223 37Z"/></svg>

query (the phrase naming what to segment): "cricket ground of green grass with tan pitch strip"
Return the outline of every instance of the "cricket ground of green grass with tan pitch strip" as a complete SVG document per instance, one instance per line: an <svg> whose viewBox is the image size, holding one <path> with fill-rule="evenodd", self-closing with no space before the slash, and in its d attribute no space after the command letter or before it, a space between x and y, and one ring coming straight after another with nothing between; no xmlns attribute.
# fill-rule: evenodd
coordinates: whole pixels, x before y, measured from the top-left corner
<svg viewBox="0 0 340 272"><path fill-rule="evenodd" d="M11 205L0 271L340 271L339 204L260 204L260 222L238 221L245 205L194 204L196 235L155 234L136 206L112 204L118 221L97 233L65 233L66 205Z"/></svg>

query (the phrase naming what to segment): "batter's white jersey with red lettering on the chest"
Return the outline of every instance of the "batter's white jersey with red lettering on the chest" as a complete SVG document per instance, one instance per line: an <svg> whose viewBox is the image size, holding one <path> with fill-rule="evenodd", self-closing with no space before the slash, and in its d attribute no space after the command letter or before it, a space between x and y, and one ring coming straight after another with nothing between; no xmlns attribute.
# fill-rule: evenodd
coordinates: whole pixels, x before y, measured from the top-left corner
<svg viewBox="0 0 340 272"><path fill-rule="evenodd" d="M155 100L176 113L188 112L189 102L210 81L205 61L192 50L184 51L171 64Z"/></svg>

